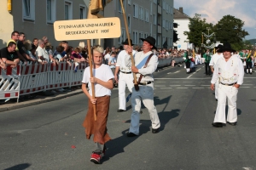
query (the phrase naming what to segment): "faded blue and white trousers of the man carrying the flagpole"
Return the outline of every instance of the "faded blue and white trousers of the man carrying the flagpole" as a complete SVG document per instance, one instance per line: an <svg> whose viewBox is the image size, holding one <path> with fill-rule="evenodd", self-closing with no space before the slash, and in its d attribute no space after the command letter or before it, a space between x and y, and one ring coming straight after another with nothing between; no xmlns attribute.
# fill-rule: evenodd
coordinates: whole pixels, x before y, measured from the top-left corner
<svg viewBox="0 0 256 170"><path fill-rule="evenodd" d="M160 120L158 113L154 106L154 83L148 84L146 86L139 86L139 90L136 91L132 88L131 94L131 126L130 133L139 134L139 122L140 122L140 111L141 111L141 101L148 109L149 117L151 120L152 128L156 129L160 127Z"/></svg>

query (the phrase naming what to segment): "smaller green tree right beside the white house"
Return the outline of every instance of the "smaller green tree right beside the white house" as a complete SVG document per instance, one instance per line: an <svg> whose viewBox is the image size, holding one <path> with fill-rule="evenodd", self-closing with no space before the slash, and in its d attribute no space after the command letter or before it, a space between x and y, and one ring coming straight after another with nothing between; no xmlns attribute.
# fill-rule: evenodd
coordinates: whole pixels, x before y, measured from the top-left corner
<svg viewBox="0 0 256 170"><path fill-rule="evenodd" d="M201 47L201 35L202 32L208 34L207 27L211 30L209 34L212 34L212 23L209 24L206 19L201 19L201 14L195 14L193 18L189 18L189 31L184 31L183 34L188 36L189 43L194 43L195 47ZM213 42L213 37L210 40Z"/></svg>

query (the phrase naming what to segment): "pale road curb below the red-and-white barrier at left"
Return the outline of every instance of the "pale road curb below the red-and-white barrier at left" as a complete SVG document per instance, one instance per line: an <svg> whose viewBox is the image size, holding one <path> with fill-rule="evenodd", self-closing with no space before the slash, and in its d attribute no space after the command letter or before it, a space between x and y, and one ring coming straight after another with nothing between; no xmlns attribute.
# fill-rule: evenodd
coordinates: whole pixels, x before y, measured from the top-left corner
<svg viewBox="0 0 256 170"><path fill-rule="evenodd" d="M20 103L3 104L3 105L0 105L0 112L11 111L11 110L15 110L15 109L32 106L32 105L39 105L39 104L43 104L43 103L46 103L49 101L64 99L64 98L67 98L67 97L70 97L73 95L77 95L77 94L83 94L83 91L81 89L78 89L73 92L69 92L67 94L57 94L57 96L49 96L44 99L31 99L31 100L26 100L26 101L23 101Z"/></svg>

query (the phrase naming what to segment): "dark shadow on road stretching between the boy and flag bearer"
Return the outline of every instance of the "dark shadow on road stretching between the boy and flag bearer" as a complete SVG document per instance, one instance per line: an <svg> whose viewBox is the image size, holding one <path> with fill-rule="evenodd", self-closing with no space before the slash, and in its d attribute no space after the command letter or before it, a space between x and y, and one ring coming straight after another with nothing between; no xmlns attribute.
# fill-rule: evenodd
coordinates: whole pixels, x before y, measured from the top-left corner
<svg viewBox="0 0 256 170"><path fill-rule="evenodd" d="M166 97L165 99L159 99L158 97L154 97L154 105L162 105L166 104L162 111L158 111L159 118L160 118L160 131L164 130L166 127L166 123L168 123L172 118L175 118L179 115L179 109L166 111L166 106L169 104L170 99L172 96ZM143 114L148 114L148 111L143 111ZM149 118L149 116L148 116ZM125 121L126 123L130 123L131 120ZM102 161L108 161L110 157L118 155L119 153L125 152L124 148L131 144L133 141L138 139L144 133L151 133L151 121L150 120L140 120L140 134L137 137L128 138L126 133L128 133L129 128L122 131L122 135L116 139L110 140L106 145L109 150L107 150L107 154ZM160 132L161 133L161 132Z"/></svg>

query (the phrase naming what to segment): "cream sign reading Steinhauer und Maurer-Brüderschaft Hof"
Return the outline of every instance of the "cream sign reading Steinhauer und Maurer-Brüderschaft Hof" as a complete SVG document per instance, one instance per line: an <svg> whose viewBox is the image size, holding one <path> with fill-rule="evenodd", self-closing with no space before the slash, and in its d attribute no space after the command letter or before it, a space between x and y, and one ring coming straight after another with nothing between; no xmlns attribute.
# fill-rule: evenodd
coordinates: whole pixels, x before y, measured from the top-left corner
<svg viewBox="0 0 256 170"><path fill-rule="evenodd" d="M121 26L117 17L86 20L58 20L54 23L55 39L81 40L120 37Z"/></svg>

